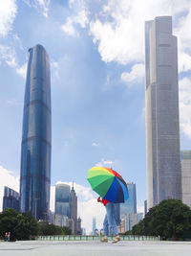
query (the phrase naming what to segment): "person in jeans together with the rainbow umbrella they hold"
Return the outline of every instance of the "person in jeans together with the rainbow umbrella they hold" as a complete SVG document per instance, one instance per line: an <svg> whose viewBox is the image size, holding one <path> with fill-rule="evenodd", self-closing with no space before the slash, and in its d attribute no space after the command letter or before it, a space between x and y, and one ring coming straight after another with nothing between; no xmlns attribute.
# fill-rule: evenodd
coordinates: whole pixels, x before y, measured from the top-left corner
<svg viewBox="0 0 191 256"><path fill-rule="evenodd" d="M117 223L114 215L114 203L124 202L129 198L127 184L121 175L116 171L105 167L93 167L88 171L88 181L92 189L100 196L97 201L102 202L106 207L106 216L103 221L105 236L101 242L108 242L109 227L117 243L120 238L117 231Z"/></svg>

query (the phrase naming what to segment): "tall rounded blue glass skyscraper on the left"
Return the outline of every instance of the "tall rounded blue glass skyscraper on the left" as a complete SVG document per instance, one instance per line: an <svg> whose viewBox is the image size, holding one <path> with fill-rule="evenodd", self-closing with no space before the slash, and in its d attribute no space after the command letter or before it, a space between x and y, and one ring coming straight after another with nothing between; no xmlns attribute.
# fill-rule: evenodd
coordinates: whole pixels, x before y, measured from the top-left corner
<svg viewBox="0 0 191 256"><path fill-rule="evenodd" d="M49 220L51 186L50 60L43 46L29 50L21 149L21 212Z"/></svg>

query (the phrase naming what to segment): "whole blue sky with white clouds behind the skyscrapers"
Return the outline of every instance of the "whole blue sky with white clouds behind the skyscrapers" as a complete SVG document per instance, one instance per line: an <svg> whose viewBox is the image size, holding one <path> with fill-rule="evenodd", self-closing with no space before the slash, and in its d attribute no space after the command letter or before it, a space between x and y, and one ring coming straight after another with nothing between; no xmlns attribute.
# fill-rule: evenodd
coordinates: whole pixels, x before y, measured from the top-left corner
<svg viewBox="0 0 191 256"><path fill-rule="evenodd" d="M52 185L74 180L89 187L90 168L112 166L136 183L138 205L143 205L144 22L159 15L173 15L178 36L180 146L190 149L191 1L0 3L0 176L9 174L1 178L1 190L10 175L20 174L28 49L40 43L51 59Z"/></svg>

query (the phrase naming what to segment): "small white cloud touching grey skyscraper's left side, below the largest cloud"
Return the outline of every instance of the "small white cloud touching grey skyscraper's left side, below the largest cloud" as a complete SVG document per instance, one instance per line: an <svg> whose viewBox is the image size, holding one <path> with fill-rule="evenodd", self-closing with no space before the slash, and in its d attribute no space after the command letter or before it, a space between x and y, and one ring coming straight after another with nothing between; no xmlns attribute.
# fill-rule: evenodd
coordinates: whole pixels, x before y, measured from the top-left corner
<svg viewBox="0 0 191 256"><path fill-rule="evenodd" d="M130 72L123 72L120 76L121 81L127 83L130 87L133 83L143 80L145 74L144 64L135 64Z"/></svg>

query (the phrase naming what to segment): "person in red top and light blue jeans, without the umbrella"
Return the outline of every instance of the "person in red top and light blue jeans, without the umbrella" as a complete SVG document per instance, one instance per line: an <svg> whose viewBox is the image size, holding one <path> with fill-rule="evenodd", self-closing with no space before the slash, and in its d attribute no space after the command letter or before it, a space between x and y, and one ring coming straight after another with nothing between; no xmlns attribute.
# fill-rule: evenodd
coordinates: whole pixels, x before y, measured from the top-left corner
<svg viewBox="0 0 191 256"><path fill-rule="evenodd" d="M102 202L106 208L106 215L103 221L104 238L102 238L100 241L103 243L108 242L107 237L109 235L109 228L111 227L113 235L116 236L113 243L117 243L118 241L120 241L120 237L118 236L117 222L114 213L114 203L100 197L97 198L97 201Z"/></svg>

